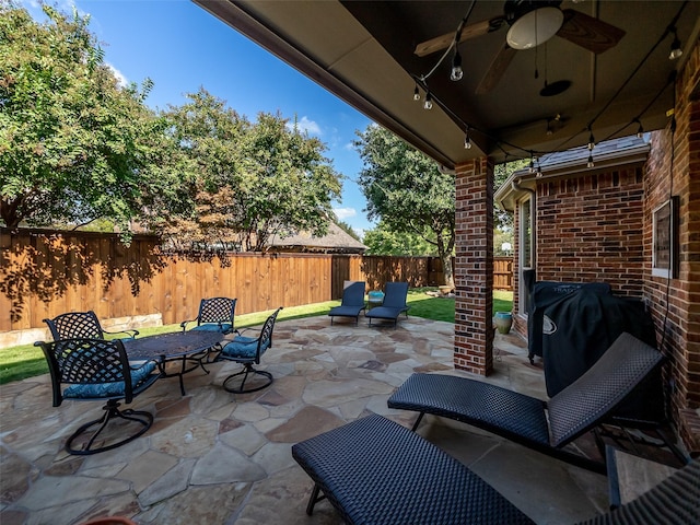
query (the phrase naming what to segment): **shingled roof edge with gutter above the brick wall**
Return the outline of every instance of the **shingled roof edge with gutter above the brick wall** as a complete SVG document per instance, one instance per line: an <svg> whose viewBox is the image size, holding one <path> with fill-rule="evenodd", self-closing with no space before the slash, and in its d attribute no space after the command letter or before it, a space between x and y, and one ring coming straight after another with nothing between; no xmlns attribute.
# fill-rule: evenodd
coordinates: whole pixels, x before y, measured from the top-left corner
<svg viewBox="0 0 700 525"><path fill-rule="evenodd" d="M542 155L535 163L540 173L530 173L529 168L513 172L497 189L495 202L504 210L514 210L515 201L526 191L532 191L537 180L580 176L586 172L609 170L625 164L643 163L649 155L650 145L645 138L637 136L620 137L595 144L593 151L587 147L572 148ZM587 167L588 156L593 158L594 166ZM514 187L515 186L515 187Z"/></svg>

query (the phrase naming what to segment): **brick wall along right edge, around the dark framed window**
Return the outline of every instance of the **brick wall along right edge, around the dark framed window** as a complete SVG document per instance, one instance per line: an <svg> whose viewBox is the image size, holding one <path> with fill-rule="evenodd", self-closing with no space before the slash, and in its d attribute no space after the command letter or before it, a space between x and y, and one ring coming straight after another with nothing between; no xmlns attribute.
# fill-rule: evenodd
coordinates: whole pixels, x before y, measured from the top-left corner
<svg viewBox="0 0 700 525"><path fill-rule="evenodd" d="M685 443L700 452L700 49L689 56L676 85L677 128L653 133L646 165L644 295L653 307L662 350L669 357L670 413ZM672 166L673 164L673 166ZM652 276L653 211L679 198L677 279Z"/></svg>

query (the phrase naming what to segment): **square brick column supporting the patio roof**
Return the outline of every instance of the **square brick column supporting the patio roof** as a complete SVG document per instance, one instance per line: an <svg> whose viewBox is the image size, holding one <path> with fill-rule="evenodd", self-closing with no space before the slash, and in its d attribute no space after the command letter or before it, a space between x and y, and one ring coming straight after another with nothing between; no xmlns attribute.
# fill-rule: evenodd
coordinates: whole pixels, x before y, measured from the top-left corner
<svg viewBox="0 0 700 525"><path fill-rule="evenodd" d="M493 162L456 167L456 369L488 375L493 369Z"/></svg>

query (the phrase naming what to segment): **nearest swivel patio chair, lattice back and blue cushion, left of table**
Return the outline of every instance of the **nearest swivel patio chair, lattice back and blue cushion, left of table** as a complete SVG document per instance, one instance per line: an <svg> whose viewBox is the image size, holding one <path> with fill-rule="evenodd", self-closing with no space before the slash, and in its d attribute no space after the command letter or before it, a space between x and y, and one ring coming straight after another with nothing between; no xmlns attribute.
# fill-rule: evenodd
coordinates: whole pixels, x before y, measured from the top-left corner
<svg viewBox="0 0 700 525"><path fill-rule="evenodd" d="M104 416L82 424L68 438L68 453L88 455L110 451L149 430L153 416L143 410L119 410L119 400L129 405L159 378L155 361L130 364L119 339L62 339L35 345L42 347L48 363L55 407L65 399L106 401ZM69 386L63 388L63 385ZM125 425L107 428L115 418L137 423L129 425L136 427L136 431L124 438L120 432Z"/></svg>

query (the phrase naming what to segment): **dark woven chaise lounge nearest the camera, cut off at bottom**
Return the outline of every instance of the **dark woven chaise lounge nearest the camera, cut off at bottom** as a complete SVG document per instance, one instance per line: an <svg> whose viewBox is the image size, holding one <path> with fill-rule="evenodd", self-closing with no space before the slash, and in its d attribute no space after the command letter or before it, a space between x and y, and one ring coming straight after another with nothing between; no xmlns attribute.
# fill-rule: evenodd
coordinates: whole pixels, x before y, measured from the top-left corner
<svg viewBox="0 0 700 525"><path fill-rule="evenodd" d="M314 481L306 506L324 499L349 524L532 524L465 465L420 435L373 415L292 446ZM700 523L700 463L588 525Z"/></svg>

